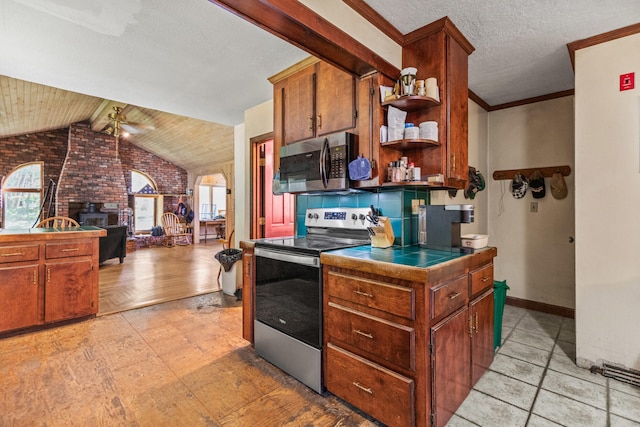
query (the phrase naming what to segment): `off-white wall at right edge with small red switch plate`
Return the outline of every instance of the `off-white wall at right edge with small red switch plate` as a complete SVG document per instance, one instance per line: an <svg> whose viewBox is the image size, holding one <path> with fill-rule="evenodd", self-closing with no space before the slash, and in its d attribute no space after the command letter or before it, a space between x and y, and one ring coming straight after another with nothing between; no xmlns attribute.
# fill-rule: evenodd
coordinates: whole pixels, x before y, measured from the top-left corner
<svg viewBox="0 0 640 427"><path fill-rule="evenodd" d="M576 352L640 369L640 35L576 52ZM619 91L635 72L636 88Z"/></svg>

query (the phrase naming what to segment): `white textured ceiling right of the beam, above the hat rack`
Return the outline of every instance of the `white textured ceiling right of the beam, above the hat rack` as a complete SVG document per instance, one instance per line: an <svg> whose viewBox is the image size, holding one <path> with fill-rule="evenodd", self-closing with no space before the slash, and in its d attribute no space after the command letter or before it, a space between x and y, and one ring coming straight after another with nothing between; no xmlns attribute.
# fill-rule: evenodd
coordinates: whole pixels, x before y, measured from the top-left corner
<svg viewBox="0 0 640 427"><path fill-rule="evenodd" d="M640 22L638 0L365 0L402 34L448 16L476 50L469 89L489 105L573 89L567 43Z"/></svg>

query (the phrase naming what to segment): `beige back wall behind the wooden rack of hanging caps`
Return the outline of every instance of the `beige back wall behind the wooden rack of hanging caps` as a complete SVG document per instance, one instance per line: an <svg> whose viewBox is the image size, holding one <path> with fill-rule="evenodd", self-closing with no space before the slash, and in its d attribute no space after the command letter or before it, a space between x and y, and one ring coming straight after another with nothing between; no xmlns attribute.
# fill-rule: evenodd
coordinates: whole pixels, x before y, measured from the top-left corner
<svg viewBox="0 0 640 427"><path fill-rule="evenodd" d="M570 165L573 167L573 97L523 105L489 114L489 234L498 248L494 275L507 280L509 296L574 308L574 176L566 178L569 195L547 193L534 199L528 191L515 199L510 181L495 181L496 170ZM530 202L538 212L529 212Z"/></svg>

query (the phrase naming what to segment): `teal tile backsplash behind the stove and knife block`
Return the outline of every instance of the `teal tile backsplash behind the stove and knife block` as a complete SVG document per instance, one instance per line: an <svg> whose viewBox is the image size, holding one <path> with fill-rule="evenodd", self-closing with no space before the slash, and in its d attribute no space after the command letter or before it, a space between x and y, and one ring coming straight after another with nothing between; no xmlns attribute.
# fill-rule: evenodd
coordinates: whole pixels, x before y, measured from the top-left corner
<svg viewBox="0 0 640 427"><path fill-rule="evenodd" d="M429 191L416 188L388 189L378 192L349 194L314 194L296 196L296 234L305 235L305 212L308 208L366 208L380 209L380 215L391 220L395 244L409 246L418 241L418 214L412 212L412 200L429 203Z"/></svg>

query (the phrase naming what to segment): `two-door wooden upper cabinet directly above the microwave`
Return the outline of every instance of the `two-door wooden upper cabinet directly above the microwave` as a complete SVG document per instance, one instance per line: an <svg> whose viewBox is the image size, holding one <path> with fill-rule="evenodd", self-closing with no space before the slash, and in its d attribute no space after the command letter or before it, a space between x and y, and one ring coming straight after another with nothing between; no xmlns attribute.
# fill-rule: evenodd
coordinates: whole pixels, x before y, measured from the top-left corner
<svg viewBox="0 0 640 427"><path fill-rule="evenodd" d="M356 79L310 58L269 79L273 84L274 157L280 147L356 126ZM275 162L274 169L279 167Z"/></svg>

